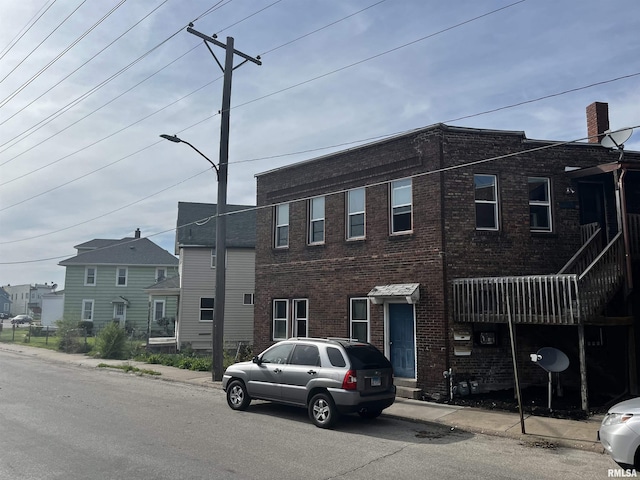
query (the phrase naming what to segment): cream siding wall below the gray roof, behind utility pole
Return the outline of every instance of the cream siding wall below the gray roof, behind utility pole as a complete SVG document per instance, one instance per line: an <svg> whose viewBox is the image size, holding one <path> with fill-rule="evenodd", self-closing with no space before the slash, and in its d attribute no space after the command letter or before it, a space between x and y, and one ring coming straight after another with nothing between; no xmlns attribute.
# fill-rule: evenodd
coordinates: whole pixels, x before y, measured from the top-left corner
<svg viewBox="0 0 640 480"><path fill-rule="evenodd" d="M200 321L200 298L215 297L215 268L210 248L180 250L181 291L179 343L211 350L212 322ZM227 249L225 345L253 343L253 305L243 305L244 294L255 291L255 250Z"/></svg>

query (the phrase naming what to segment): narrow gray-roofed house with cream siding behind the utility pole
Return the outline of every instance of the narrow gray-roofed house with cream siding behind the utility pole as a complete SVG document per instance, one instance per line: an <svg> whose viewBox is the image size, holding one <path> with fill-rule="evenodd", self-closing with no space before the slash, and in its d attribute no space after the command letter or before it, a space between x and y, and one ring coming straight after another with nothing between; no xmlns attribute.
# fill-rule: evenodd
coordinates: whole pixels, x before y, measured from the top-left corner
<svg viewBox="0 0 640 480"><path fill-rule="evenodd" d="M212 348L215 302L217 206L178 203L175 253L180 257L178 348ZM224 315L225 348L253 344L256 212L252 205L227 206Z"/></svg>

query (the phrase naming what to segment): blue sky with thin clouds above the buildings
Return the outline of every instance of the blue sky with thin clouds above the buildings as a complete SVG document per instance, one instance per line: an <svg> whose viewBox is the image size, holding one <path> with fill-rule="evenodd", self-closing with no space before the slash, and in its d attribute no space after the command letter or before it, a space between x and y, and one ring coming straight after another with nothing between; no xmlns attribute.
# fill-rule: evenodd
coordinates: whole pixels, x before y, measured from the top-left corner
<svg viewBox="0 0 640 480"><path fill-rule="evenodd" d="M0 285L56 283L75 245L174 253L178 202L216 203L225 50L236 56L228 203L255 175L446 123L587 136L640 126L637 0L4 0ZM640 128L626 143L640 151Z"/></svg>

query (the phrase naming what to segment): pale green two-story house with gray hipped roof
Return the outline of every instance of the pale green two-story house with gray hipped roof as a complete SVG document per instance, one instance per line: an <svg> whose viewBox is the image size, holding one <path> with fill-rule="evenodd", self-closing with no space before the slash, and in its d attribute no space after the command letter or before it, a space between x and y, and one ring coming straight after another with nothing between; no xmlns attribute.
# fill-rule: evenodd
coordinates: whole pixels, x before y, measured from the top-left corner
<svg viewBox="0 0 640 480"><path fill-rule="evenodd" d="M178 259L151 240L134 237L94 239L76 245L77 255L63 260L66 268L64 318L93 322L94 331L118 322L147 333L149 321L176 311L177 298L154 305L145 291L159 281L178 275Z"/></svg>

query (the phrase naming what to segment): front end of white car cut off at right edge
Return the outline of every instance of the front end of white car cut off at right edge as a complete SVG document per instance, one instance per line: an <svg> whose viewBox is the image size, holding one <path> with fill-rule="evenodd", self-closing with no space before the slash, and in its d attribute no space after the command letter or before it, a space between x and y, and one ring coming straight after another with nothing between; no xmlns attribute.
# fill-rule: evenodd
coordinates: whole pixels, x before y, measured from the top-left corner
<svg viewBox="0 0 640 480"><path fill-rule="evenodd" d="M640 469L640 397L611 407L602 420L598 439L622 468Z"/></svg>

